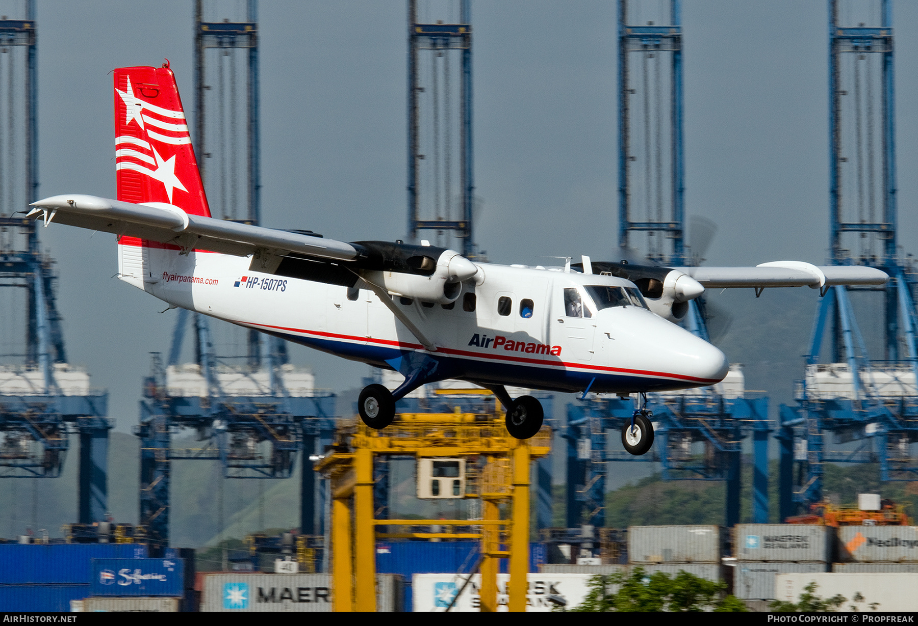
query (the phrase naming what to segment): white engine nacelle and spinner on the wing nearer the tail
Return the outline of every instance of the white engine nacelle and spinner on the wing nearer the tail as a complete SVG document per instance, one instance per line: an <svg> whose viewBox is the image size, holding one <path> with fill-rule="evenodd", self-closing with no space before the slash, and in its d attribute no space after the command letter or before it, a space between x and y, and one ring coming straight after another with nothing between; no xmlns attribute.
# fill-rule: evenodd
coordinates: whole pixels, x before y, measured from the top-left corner
<svg viewBox="0 0 918 626"><path fill-rule="evenodd" d="M398 296L421 302L449 304L455 302L462 293L463 280L471 279L478 272L472 261L455 250L444 250L436 259L416 255L407 261L412 268L410 273L364 269L361 276Z"/></svg>

